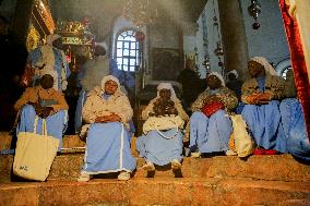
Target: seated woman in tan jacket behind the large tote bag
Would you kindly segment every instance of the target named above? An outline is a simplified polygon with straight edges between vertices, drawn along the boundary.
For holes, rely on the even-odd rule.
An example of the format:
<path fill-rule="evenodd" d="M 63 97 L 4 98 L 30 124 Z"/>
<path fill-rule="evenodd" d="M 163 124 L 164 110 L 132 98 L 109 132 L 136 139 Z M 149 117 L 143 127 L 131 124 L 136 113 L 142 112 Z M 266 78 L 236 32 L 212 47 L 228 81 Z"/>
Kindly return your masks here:
<path fill-rule="evenodd" d="M 67 129 L 69 109 L 63 94 L 52 88 L 53 77 L 44 74 L 40 85 L 27 88 L 16 101 L 14 109 L 20 111 L 20 132 L 36 132 L 41 134 L 41 119 L 46 119 L 47 135 L 59 140 L 59 149 L 62 146 L 62 134 Z M 34 131 L 35 117 L 38 116 L 37 131 Z"/>

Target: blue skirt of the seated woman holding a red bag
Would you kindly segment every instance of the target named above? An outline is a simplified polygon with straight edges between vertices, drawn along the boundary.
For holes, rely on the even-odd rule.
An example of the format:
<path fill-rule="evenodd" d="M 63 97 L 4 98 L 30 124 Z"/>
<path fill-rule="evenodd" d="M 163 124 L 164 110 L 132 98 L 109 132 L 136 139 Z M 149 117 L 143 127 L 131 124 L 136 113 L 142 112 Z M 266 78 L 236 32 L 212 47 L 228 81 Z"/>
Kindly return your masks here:
<path fill-rule="evenodd" d="M 233 132 L 231 121 L 225 110 L 218 110 L 207 118 L 195 111 L 190 118 L 191 152 L 215 153 L 228 150 L 228 142 Z"/>

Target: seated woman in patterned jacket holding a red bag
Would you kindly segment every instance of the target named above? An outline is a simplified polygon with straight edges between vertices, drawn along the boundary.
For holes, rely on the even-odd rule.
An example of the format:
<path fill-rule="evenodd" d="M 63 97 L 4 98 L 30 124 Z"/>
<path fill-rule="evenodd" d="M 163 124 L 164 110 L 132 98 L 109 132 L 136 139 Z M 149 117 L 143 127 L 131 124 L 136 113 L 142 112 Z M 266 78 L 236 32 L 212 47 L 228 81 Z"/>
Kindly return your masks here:
<path fill-rule="evenodd" d="M 190 118 L 190 152 L 192 157 L 201 153 L 228 150 L 228 141 L 233 132 L 227 111 L 233 110 L 238 99 L 234 92 L 225 86 L 224 78 L 217 72 L 206 77 L 207 88 L 192 105 Z M 213 112 L 205 112 L 205 111 Z"/>

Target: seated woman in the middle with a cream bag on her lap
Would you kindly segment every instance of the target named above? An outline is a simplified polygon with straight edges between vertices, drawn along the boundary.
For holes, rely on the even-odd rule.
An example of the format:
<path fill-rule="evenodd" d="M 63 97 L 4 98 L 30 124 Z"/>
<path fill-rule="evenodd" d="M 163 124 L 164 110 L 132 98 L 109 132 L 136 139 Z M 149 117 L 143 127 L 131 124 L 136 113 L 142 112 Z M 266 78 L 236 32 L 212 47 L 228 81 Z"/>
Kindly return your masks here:
<path fill-rule="evenodd" d="M 182 123 L 189 119 L 170 83 L 160 83 L 157 86 L 157 97 L 151 100 L 142 111 L 143 120 L 165 116 L 177 116 Z M 160 121 L 160 118 L 158 120 Z M 175 123 L 176 126 L 167 128 L 165 131 L 158 131 L 156 126 L 147 131 L 144 130 L 146 134 L 136 140 L 136 150 L 146 161 L 143 169 L 153 171 L 155 170 L 154 163 L 164 166 L 169 162 L 171 162 L 174 170 L 181 167 L 183 134 L 177 129 L 180 125 L 177 122 Z"/>

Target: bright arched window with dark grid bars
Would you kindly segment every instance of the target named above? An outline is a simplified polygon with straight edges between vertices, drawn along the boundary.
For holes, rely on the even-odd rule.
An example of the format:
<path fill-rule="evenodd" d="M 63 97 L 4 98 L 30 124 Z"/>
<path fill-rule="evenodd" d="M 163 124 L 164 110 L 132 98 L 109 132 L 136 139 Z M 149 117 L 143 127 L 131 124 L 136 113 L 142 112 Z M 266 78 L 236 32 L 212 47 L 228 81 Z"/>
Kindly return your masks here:
<path fill-rule="evenodd" d="M 140 64 L 140 53 L 134 31 L 124 31 L 117 37 L 116 53 L 119 70 L 135 71 L 135 68 Z"/>

